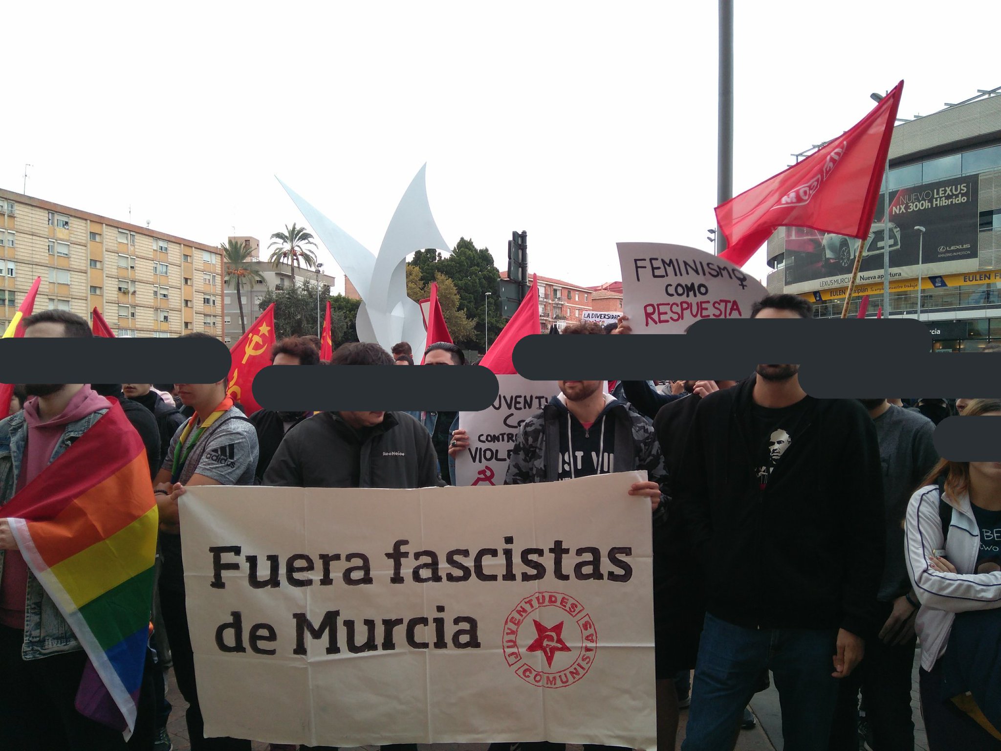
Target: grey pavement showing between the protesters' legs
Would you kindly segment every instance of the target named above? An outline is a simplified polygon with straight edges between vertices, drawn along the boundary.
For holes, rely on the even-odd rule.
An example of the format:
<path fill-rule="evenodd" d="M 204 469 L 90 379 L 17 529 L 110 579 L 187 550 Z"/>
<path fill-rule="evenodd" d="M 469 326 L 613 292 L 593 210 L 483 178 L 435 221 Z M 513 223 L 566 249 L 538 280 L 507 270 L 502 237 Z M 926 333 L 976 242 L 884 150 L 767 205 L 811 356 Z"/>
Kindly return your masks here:
<path fill-rule="evenodd" d="M 911 675 L 911 708 L 914 713 L 914 748 L 915 751 L 928 751 L 928 737 L 925 735 L 925 725 L 921 719 L 921 710 L 918 694 L 918 665 L 917 653 L 915 653 L 914 669 Z M 189 751 L 191 744 L 187 738 L 187 728 L 184 725 L 184 709 L 187 703 L 177 690 L 174 681 L 173 671 L 170 671 L 167 700 L 174 709 L 170 713 L 170 722 L 167 730 L 174 744 L 174 751 Z M 782 751 L 782 713 L 779 709 L 779 692 L 774 684 L 767 691 L 763 691 L 751 702 L 751 710 L 758 718 L 758 725 L 753 730 L 742 730 L 737 739 L 736 751 Z M 685 723 L 688 720 L 688 711 L 682 710 L 681 725 L 678 731 L 678 749 L 685 739 Z M 254 742 L 253 751 L 266 751 L 266 743 Z M 375 746 L 366 746 L 368 751 L 373 751 Z M 430 746 L 420 746 L 420 751 L 428 751 Z M 569 745 L 568 751 L 582 751 L 581 746 Z M 345 749 L 344 751 L 347 751 Z M 485 744 L 438 744 L 434 751 L 486 751 Z"/>

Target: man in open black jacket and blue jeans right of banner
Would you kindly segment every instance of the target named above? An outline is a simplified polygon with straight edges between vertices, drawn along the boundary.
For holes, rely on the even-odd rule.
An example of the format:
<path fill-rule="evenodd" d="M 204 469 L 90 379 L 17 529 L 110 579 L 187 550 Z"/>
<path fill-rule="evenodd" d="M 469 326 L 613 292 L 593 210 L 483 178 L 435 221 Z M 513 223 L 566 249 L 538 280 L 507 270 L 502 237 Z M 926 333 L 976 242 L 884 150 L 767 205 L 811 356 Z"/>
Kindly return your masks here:
<path fill-rule="evenodd" d="M 752 317 L 810 317 L 795 295 Z M 761 671 L 775 677 L 786 748 L 826 751 L 838 679 L 881 626 L 883 478 L 876 429 L 854 400 L 818 400 L 799 366 L 696 409 L 675 500 L 706 575 L 685 751 L 730 751 Z"/>

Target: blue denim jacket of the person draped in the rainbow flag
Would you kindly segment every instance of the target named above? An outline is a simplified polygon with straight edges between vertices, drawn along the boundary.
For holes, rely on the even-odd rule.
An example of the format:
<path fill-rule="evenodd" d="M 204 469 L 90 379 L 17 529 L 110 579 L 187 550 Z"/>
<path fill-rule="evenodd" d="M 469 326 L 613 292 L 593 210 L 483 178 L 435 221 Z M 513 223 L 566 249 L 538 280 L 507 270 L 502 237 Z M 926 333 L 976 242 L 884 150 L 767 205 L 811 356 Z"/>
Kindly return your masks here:
<path fill-rule="evenodd" d="M 66 424 L 49 464 L 55 462 L 106 412 L 107 410 L 98 410 L 75 423 Z M 28 424 L 23 412 L 0 422 L 0 518 L 4 517 L 3 506 L 14 497 L 27 440 Z M 0 551 L 0 576 L 3 575 L 3 560 L 4 551 Z M 21 657 L 25 660 L 35 660 L 79 649 L 81 649 L 80 643 L 73 630 L 29 570 L 28 596 L 24 613 L 24 646 L 21 648 Z"/>

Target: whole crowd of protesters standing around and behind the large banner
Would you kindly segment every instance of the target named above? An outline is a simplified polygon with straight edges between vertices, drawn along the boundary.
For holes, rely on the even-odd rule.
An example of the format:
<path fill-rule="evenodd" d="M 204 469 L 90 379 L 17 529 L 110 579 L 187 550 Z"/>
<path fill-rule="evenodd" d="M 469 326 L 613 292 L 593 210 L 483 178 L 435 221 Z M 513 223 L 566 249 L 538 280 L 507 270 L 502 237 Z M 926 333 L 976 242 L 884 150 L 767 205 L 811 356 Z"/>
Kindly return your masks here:
<path fill-rule="evenodd" d="M 752 315 L 812 311 L 801 297 L 774 295 Z M 91 335 L 62 310 L 23 324 L 25 336 Z M 563 333 L 631 328 L 623 316 Z M 186 334 L 198 335 L 206 334 Z M 422 364 L 465 364 L 446 342 L 419 354 Z M 316 337 L 282 339 L 271 357 L 276 365 L 415 363 L 406 342 L 391 353 L 344 344 L 321 363 Z M 1001 401 L 814 399 L 798 371 L 759 364 L 740 382 L 664 389 L 561 381 L 521 426 L 505 483 L 647 472 L 629 493 L 649 499 L 653 514 L 659 749 L 675 748 L 689 707 L 683 749 L 730 751 L 740 728 L 754 725 L 751 699 L 772 681 L 788 751 L 913 749 L 917 654 L 931 749 L 1001 748 L 1001 463 L 940 460 L 932 442 L 945 418 L 1001 416 Z M 146 447 L 160 524 L 148 675 L 127 741 L 77 711 L 81 645 L 2 511 L 118 409 Z M 0 749 L 169 751 L 164 675 L 172 666 L 191 748 L 248 750 L 248 740 L 203 737 L 178 499 L 206 485 L 454 485 L 454 460 L 469 445 L 457 413 L 245 415 L 225 382 L 28 384 L 15 389 L 11 412 L 0 422 Z M 496 745 L 558 748 L 525 741 Z"/>

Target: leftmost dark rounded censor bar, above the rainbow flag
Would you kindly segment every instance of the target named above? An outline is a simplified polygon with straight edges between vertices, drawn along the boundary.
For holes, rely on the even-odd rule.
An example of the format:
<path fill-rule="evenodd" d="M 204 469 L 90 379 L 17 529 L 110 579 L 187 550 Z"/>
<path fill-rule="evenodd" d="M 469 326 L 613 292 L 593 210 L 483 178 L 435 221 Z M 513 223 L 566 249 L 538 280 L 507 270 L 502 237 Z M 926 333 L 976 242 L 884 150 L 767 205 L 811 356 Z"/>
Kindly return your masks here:
<path fill-rule="evenodd" d="M 0 338 L 4 384 L 214 384 L 229 373 L 216 338 Z"/>

